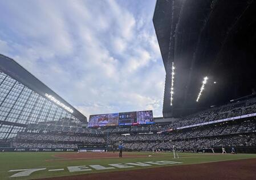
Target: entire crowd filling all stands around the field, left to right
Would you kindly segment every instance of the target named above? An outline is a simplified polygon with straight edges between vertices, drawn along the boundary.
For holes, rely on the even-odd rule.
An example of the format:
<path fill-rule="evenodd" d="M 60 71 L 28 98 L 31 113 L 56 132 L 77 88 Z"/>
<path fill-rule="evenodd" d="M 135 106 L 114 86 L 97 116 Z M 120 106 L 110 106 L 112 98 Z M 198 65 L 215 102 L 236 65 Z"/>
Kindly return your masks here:
<path fill-rule="evenodd" d="M 243 114 L 256 113 L 255 101 L 242 101 L 180 118 L 168 125 L 112 126 L 82 128 L 79 122 L 62 119 L 30 124 L 26 132 L 19 132 L 13 142 L 15 148 L 77 148 L 82 144 L 119 144 L 128 150 L 198 149 L 221 146 L 256 146 L 256 120 L 220 122 L 207 126 L 177 129 Z"/>

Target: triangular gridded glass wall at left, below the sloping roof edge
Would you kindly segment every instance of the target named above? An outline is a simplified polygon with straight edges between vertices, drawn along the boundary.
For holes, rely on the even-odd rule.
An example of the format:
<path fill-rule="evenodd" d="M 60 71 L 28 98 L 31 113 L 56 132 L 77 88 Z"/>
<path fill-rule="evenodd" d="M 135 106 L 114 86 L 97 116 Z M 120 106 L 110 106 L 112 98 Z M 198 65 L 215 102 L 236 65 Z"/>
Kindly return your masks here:
<path fill-rule="evenodd" d="M 0 139 L 13 138 L 24 125 L 64 118 L 78 120 L 52 101 L 0 71 Z"/>

